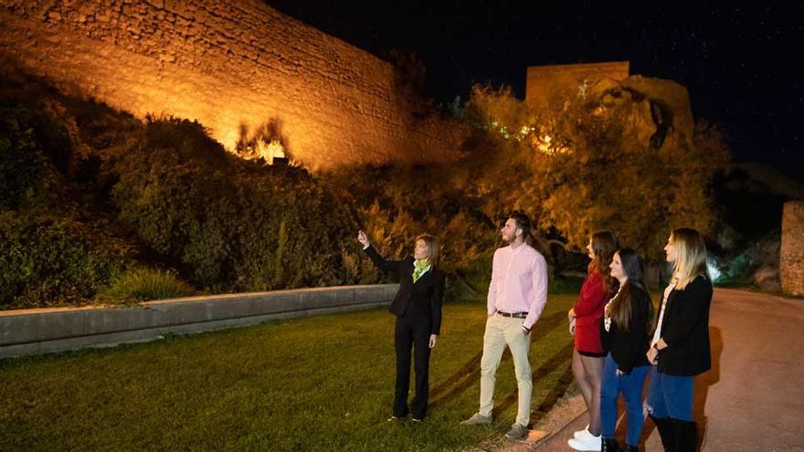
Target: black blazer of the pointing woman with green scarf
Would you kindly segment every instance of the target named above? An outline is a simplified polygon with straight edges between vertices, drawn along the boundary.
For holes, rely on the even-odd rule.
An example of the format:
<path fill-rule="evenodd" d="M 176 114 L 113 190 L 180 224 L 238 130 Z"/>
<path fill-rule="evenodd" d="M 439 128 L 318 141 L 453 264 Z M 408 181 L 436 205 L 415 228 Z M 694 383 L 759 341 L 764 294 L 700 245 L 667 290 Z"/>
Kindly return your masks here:
<path fill-rule="evenodd" d="M 430 334 L 439 334 L 441 303 L 444 298 L 444 272 L 431 267 L 414 283 L 414 258 L 386 260 L 372 246 L 365 248 L 365 254 L 381 270 L 399 274 L 399 291 L 388 310 L 397 317 L 402 317 L 406 312 L 427 315 L 430 320 Z"/>

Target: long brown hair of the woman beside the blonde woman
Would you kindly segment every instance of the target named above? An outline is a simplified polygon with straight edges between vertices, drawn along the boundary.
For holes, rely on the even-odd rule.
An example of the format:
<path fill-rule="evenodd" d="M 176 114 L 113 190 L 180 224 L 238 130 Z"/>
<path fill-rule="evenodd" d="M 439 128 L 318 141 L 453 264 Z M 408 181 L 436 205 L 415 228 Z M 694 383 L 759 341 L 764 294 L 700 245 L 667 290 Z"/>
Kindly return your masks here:
<path fill-rule="evenodd" d="M 642 277 L 642 263 L 640 256 L 631 248 L 622 248 L 617 253 L 622 271 L 628 277 L 625 284 L 619 289 L 617 296 L 606 306 L 606 316 L 617 324 L 620 330 L 629 331 L 631 321 L 631 303 L 634 292 L 641 290 L 648 296 L 648 320 L 645 325 L 647 334 L 653 334 L 653 303 L 645 280 Z"/>

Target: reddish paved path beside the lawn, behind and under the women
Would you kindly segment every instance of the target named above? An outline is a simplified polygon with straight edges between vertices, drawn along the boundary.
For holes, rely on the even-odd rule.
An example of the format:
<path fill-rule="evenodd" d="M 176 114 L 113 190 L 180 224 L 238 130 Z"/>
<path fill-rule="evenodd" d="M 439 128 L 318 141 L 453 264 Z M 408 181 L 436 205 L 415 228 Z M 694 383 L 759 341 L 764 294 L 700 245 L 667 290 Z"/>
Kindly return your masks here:
<path fill-rule="evenodd" d="M 715 289 L 710 335 L 713 370 L 695 381 L 702 450 L 804 452 L 804 300 Z M 586 425 L 584 414 L 540 444 L 511 450 L 570 451 L 566 440 Z M 642 440 L 644 450 L 661 451 L 650 420 Z"/>

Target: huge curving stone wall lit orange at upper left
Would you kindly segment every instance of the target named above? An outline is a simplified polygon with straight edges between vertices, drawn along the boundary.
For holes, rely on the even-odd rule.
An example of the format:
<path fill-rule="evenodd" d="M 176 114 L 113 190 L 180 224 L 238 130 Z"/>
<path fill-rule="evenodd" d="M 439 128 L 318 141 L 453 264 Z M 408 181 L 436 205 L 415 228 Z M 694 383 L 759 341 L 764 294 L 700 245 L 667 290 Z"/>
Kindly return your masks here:
<path fill-rule="evenodd" d="M 444 158 L 385 61 L 251 0 L 0 0 L 0 53 L 59 88 L 143 117 L 195 119 L 231 149 L 279 121 L 312 168 Z"/>

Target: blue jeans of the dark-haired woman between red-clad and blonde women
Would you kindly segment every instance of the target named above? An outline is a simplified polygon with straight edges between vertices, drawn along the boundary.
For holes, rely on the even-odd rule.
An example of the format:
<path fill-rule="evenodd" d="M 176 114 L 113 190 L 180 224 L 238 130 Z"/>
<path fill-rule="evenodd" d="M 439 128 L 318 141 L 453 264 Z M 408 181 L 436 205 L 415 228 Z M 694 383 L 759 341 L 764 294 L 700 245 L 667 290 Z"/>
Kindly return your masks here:
<path fill-rule="evenodd" d="M 600 388 L 600 432 L 603 437 L 613 438 L 617 428 L 617 397 L 622 393 L 625 401 L 628 424 L 625 442 L 631 446 L 640 444 L 642 434 L 642 388 L 651 366 L 634 367 L 631 374 L 617 375 L 617 362 L 606 355 L 603 362 L 603 381 Z"/>

